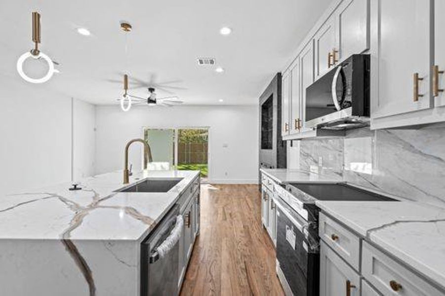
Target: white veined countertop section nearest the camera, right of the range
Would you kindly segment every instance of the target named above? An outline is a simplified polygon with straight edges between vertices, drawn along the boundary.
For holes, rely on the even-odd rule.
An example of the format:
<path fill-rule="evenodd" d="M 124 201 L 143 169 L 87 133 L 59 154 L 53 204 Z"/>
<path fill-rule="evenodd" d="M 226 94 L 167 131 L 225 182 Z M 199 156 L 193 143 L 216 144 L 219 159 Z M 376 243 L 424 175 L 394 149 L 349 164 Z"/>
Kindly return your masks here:
<path fill-rule="evenodd" d="M 445 209 L 400 201 L 317 201 L 325 213 L 445 288 Z"/>

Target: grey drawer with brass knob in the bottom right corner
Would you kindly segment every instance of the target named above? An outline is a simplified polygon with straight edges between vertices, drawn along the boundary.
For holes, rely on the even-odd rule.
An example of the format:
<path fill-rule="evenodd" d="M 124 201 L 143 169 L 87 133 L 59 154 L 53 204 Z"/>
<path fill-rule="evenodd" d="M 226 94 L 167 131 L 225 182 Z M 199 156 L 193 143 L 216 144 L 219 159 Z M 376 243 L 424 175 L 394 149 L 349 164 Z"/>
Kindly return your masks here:
<path fill-rule="evenodd" d="M 431 284 L 368 243 L 363 243 L 364 278 L 385 296 L 444 296 Z"/>

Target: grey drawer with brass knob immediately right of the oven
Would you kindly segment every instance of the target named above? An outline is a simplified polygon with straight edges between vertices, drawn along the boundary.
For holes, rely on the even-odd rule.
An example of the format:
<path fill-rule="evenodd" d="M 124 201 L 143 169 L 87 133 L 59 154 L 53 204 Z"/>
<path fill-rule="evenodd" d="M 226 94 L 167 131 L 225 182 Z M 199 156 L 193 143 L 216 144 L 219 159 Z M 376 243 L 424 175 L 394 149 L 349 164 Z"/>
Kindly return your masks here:
<path fill-rule="evenodd" d="M 360 238 L 345 227 L 320 213 L 319 235 L 357 271 L 360 270 Z"/>

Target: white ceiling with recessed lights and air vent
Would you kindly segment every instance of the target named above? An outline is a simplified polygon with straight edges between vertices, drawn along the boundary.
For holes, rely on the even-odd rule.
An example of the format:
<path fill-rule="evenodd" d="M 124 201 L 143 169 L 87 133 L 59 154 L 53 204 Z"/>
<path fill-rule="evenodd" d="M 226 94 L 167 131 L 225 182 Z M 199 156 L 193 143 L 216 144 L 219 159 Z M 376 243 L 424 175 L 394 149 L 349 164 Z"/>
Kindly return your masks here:
<path fill-rule="evenodd" d="M 0 72 L 20 80 L 17 58 L 32 48 L 31 12 L 42 17 L 40 49 L 61 63 L 45 86 L 94 104 L 116 104 L 122 71 L 171 86 L 186 104 L 257 104 L 258 97 L 331 0 L 28 0 L 0 3 Z M 128 58 L 120 21 L 133 26 Z M 230 36 L 219 29 L 229 26 Z M 88 28 L 92 36 L 76 32 Z M 214 57 L 202 67 L 197 57 Z M 30 66 L 31 65 L 26 65 Z M 3 81 L 5 81 L 3 79 Z M 16 85 L 16 84 L 15 84 Z M 7 88 L 0 83 L 0 93 Z M 143 88 L 131 91 L 145 95 Z"/>

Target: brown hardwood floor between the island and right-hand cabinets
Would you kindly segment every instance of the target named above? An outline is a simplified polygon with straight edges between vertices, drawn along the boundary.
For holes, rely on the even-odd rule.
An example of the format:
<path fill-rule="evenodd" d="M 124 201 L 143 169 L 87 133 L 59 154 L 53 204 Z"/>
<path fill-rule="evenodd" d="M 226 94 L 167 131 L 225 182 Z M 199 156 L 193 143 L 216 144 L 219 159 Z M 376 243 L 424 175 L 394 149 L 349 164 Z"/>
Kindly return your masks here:
<path fill-rule="evenodd" d="M 181 296 L 284 295 L 257 185 L 202 185 L 200 232 Z"/>

